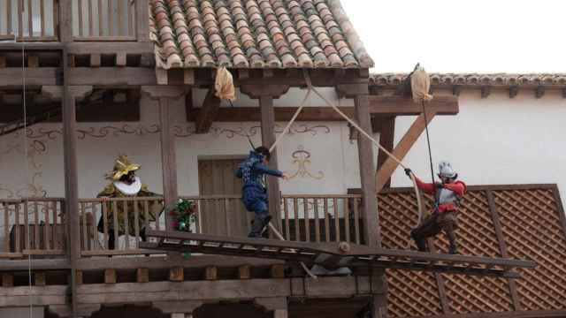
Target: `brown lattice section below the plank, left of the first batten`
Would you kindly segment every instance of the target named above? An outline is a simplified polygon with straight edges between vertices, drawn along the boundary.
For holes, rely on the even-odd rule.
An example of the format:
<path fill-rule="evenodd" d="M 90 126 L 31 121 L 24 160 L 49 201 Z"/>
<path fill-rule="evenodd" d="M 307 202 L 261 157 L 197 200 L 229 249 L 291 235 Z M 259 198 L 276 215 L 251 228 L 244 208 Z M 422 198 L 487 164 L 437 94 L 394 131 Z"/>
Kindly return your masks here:
<path fill-rule="evenodd" d="M 432 273 L 387 269 L 387 285 L 388 316 L 442 314 L 438 287 Z"/>

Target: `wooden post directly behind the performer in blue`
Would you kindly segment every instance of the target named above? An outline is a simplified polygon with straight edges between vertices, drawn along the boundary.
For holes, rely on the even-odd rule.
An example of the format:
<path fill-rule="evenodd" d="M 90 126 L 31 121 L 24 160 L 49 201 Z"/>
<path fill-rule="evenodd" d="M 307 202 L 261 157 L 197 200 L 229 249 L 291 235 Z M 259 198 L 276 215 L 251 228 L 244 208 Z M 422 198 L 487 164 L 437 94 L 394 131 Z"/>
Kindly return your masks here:
<path fill-rule="evenodd" d="M 273 97 L 260 96 L 259 106 L 262 113 L 262 144 L 270 148 L 275 143 L 275 111 L 273 110 Z M 269 161 L 271 169 L 277 169 L 277 148 L 273 149 Z M 269 211 L 272 215 L 273 224 L 281 230 L 281 193 L 279 192 L 279 180 L 277 178 L 267 178 L 267 193 L 269 195 Z"/>

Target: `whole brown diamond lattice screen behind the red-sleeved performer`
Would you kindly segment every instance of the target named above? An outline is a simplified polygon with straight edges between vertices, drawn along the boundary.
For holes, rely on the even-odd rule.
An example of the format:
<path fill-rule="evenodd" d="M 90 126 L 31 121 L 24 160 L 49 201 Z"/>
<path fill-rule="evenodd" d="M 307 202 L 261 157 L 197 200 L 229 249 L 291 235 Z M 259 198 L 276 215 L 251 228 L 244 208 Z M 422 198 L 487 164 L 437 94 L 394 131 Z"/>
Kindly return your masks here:
<path fill-rule="evenodd" d="M 425 201 L 430 208 L 432 198 Z M 556 186 L 473 186 L 462 203 L 457 231 L 460 253 L 487 257 L 506 253 L 537 261 L 538 268 L 522 270 L 523 278 L 515 284 L 503 278 L 387 270 L 389 316 L 566 308 L 566 238 Z M 379 222 L 384 247 L 415 249 L 409 239 L 417 223 L 412 190 L 379 194 Z M 496 229 L 496 223 L 501 229 Z M 447 250 L 443 234 L 435 247 Z"/>

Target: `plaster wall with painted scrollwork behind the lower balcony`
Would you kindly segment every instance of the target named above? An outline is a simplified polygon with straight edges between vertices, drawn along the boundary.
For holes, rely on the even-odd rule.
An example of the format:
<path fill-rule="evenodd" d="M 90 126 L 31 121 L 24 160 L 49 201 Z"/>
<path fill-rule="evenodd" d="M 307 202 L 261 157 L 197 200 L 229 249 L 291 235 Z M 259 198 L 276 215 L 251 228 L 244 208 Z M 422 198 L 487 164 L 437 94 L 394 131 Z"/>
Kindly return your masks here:
<path fill-rule="evenodd" d="M 203 91 L 195 92 L 195 105 L 202 102 Z M 279 106 L 296 106 L 305 92 L 289 92 Z M 338 101 L 332 90 L 326 94 Z M 241 97 L 239 106 L 255 106 L 256 101 Z M 312 96 L 308 106 L 323 102 Z M 226 106 L 226 105 L 223 105 Z M 198 158 L 210 155 L 247 155 L 251 135 L 256 146 L 261 144 L 259 123 L 215 123 L 210 133 L 194 134 L 193 125 L 186 122 L 185 102 L 172 103 L 172 118 L 176 133 L 178 183 L 181 195 L 198 194 Z M 78 125 L 79 195 L 95 197 L 107 184 L 104 174 L 111 170 L 115 158 L 124 153 L 142 165 L 139 171 L 144 183 L 157 193 L 162 192 L 161 153 L 158 133 L 157 102 L 142 97 L 140 123 L 80 123 Z M 278 123 L 282 131 L 287 123 Z M 0 198 L 18 196 L 63 196 L 64 158 L 60 124 L 34 125 L 30 138 L 13 133 L 0 138 Z M 27 160 L 24 149 L 27 142 Z M 350 187 L 359 187 L 356 142 L 349 140 L 345 123 L 297 123 L 291 133 L 280 142 L 279 168 L 290 174 L 300 169 L 296 162 L 305 159 L 295 153 L 304 150 L 310 162 L 304 162 L 302 174 L 287 182 L 281 181 L 283 193 L 346 193 Z"/>

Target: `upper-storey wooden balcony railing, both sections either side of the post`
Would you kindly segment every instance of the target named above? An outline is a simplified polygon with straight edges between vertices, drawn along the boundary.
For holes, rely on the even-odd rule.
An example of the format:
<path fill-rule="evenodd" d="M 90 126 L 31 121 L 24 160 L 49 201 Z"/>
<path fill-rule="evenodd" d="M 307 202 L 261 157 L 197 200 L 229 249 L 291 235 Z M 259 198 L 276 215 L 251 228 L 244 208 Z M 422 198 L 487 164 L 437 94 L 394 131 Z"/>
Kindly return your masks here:
<path fill-rule="evenodd" d="M 61 10 L 62 5 L 70 8 Z M 74 42 L 147 42 L 147 5 L 133 0 L 0 0 L 0 42 L 59 42 L 64 33 Z M 63 29 L 65 20 L 70 27 Z"/>

